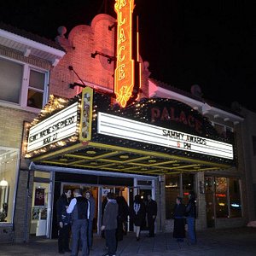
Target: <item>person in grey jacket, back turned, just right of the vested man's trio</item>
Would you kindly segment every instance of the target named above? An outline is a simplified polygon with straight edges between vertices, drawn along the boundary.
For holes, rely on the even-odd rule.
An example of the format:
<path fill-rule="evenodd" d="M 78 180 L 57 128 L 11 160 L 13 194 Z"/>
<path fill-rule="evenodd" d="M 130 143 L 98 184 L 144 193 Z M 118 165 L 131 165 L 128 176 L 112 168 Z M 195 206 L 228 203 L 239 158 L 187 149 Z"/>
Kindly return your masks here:
<path fill-rule="evenodd" d="M 117 229 L 117 218 L 119 214 L 119 206 L 117 201 L 114 199 L 112 192 L 107 194 L 107 204 L 104 208 L 102 230 L 105 231 L 106 243 L 108 245 L 108 253 L 103 256 L 115 256 L 117 241 L 116 241 L 116 229 Z"/>

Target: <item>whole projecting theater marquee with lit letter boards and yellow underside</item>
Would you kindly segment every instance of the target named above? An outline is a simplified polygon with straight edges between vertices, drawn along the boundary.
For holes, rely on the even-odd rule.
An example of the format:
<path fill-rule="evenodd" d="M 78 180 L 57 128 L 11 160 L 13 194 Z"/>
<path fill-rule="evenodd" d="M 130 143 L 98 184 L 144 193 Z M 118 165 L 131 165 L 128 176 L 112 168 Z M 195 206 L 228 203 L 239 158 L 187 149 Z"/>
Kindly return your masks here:
<path fill-rule="evenodd" d="M 52 102 L 58 105 L 61 100 Z M 108 96 L 88 87 L 61 110 L 53 108 L 52 102 L 28 135 L 26 156 L 36 164 L 142 175 L 234 166 L 232 143 L 215 134 L 195 110 L 179 106 L 182 113 L 177 119 L 170 100 L 149 99 L 130 108 L 110 108 Z M 170 108 L 172 113 L 167 111 Z"/>

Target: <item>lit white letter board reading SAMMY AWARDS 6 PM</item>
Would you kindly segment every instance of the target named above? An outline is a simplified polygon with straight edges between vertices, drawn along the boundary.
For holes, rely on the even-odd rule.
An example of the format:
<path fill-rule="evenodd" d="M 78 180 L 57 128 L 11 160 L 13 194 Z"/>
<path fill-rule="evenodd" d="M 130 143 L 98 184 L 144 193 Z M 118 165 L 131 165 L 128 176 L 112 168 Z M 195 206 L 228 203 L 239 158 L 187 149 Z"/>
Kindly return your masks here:
<path fill-rule="evenodd" d="M 233 160 L 233 146 L 182 131 L 149 125 L 108 113 L 98 113 L 98 133 L 166 148 L 177 148 Z"/>

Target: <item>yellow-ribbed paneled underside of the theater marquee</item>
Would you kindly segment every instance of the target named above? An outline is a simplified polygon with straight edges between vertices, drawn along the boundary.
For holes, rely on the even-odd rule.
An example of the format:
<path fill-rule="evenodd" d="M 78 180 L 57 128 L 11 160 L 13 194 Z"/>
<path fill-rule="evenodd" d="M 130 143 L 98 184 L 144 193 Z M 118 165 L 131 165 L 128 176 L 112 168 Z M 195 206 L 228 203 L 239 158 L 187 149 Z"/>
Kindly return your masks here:
<path fill-rule="evenodd" d="M 87 145 L 79 143 L 38 156 L 32 160 L 40 165 L 142 175 L 216 171 L 229 167 L 224 164 L 193 160 L 172 154 L 122 148 L 100 143 L 88 143 Z"/>

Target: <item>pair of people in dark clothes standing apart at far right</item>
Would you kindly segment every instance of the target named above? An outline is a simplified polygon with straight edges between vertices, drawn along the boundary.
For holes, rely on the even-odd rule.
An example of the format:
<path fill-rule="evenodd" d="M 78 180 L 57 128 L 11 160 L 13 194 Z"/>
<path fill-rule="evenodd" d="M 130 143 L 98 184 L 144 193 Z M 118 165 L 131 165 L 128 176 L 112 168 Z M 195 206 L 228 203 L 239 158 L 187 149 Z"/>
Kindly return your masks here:
<path fill-rule="evenodd" d="M 183 198 L 177 196 L 173 218 L 173 237 L 176 238 L 178 242 L 183 241 L 183 239 L 186 237 L 185 224 L 187 224 L 189 244 L 195 244 L 196 206 L 195 193 L 193 191 L 189 191 L 189 202 L 186 206 L 183 204 Z"/>

